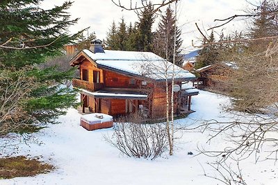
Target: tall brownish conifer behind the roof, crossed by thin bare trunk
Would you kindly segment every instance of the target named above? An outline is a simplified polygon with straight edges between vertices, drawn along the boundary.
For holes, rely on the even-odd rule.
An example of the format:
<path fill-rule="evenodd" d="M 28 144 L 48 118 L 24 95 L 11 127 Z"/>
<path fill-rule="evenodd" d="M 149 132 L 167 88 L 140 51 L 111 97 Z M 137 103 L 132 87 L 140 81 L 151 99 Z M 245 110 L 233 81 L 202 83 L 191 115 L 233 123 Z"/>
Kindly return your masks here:
<path fill-rule="evenodd" d="M 177 29 L 176 32 L 176 53 L 175 53 L 175 64 L 179 67 L 183 64 L 183 58 L 181 53 L 181 29 Z M 173 61 L 173 51 L 174 51 L 174 15 L 173 10 L 170 7 L 167 8 L 165 15 L 161 16 L 161 21 L 158 24 L 158 29 L 156 30 L 154 37 L 154 53 L 167 59 L 168 61 Z"/>

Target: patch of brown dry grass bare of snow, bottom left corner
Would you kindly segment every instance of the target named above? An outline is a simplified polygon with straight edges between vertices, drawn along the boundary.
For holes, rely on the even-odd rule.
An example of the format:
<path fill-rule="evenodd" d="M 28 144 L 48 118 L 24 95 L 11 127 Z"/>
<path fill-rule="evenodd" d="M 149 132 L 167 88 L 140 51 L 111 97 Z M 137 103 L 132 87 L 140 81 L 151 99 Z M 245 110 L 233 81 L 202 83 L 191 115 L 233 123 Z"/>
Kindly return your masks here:
<path fill-rule="evenodd" d="M 48 173 L 54 166 L 44 164 L 37 159 L 28 159 L 25 156 L 8 157 L 0 159 L 0 179 L 14 177 L 28 177 L 40 173 Z"/>

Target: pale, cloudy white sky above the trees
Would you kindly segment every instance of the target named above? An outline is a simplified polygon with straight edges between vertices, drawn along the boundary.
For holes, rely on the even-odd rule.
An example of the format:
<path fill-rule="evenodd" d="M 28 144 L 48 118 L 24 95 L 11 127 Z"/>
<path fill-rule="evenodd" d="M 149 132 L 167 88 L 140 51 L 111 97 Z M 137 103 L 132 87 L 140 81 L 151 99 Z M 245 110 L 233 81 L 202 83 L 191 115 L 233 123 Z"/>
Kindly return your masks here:
<path fill-rule="evenodd" d="M 44 0 L 41 4 L 42 8 L 51 8 L 54 5 L 59 6 L 65 0 Z M 117 0 L 116 0 L 117 1 Z M 120 0 L 123 4 L 129 5 L 130 0 Z M 136 0 L 132 0 L 135 2 Z M 138 0 L 137 0 L 138 1 Z M 162 0 L 154 0 L 162 1 Z M 154 2 L 153 1 L 153 2 Z M 255 1 L 255 0 L 254 0 Z M 253 2 L 251 0 L 251 2 Z M 202 37 L 197 30 L 195 23 L 204 33 L 211 26 L 219 23 L 214 22 L 214 19 L 223 19 L 235 14 L 243 14 L 243 10 L 247 8 L 247 0 L 180 0 L 178 3 L 178 26 L 182 30 L 183 51 L 192 51 L 195 48 L 192 46 L 192 40 L 195 46 L 200 44 Z M 113 21 L 117 24 L 121 17 L 124 17 L 126 24 L 138 21 L 138 16 L 135 12 L 129 10 L 122 10 L 115 6 L 111 0 L 75 0 L 73 6 L 68 10 L 72 18 L 79 17 L 78 24 L 70 27 L 71 33 L 76 33 L 78 30 L 90 26 L 89 32 L 95 32 L 98 39 L 106 39 L 106 33 L 111 27 Z M 164 12 L 164 10 L 162 10 Z M 153 30 L 159 21 L 159 15 L 153 26 Z M 231 33 L 235 30 L 242 30 L 246 27 L 246 21 L 232 21 L 227 26 L 215 29 L 215 35 L 224 31 L 224 33 Z M 208 31 L 209 35 L 211 32 Z"/>

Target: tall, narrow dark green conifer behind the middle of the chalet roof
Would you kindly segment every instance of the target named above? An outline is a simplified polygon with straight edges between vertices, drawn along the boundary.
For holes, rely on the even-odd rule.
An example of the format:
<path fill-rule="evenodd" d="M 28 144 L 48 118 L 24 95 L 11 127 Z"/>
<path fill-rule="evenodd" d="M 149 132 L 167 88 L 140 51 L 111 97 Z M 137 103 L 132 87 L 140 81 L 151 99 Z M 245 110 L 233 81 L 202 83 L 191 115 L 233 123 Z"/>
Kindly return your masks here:
<path fill-rule="evenodd" d="M 144 8 L 138 23 L 137 51 L 152 51 L 154 34 L 152 25 L 154 24 L 154 8 L 151 3 Z"/>

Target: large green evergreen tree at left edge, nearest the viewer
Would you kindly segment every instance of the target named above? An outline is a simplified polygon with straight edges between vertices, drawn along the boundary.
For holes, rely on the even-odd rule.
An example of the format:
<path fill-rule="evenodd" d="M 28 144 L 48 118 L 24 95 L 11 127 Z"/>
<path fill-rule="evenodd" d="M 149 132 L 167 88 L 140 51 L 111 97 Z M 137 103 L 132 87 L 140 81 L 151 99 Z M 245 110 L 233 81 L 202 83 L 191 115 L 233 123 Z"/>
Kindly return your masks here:
<path fill-rule="evenodd" d="M 8 79 L 1 80 L 1 87 L 17 89 L 17 82 L 32 79 L 28 93 L 15 102 L 21 109 L 13 107 L 0 113 L 0 127 L 15 124 L 15 112 L 21 115 L 16 123 L 32 125 L 54 122 L 66 113 L 65 109 L 76 105 L 75 92 L 58 83 L 71 78 L 73 70 L 38 68 L 47 58 L 60 55 L 64 44 L 80 36 L 67 34 L 67 28 L 77 21 L 66 12 L 72 2 L 66 1 L 50 10 L 42 10 L 39 3 L 40 0 L 0 2 L 0 73 L 6 73 Z M 22 72 L 17 75 L 17 71 Z M 5 101 L 0 98 L 2 105 Z"/>

